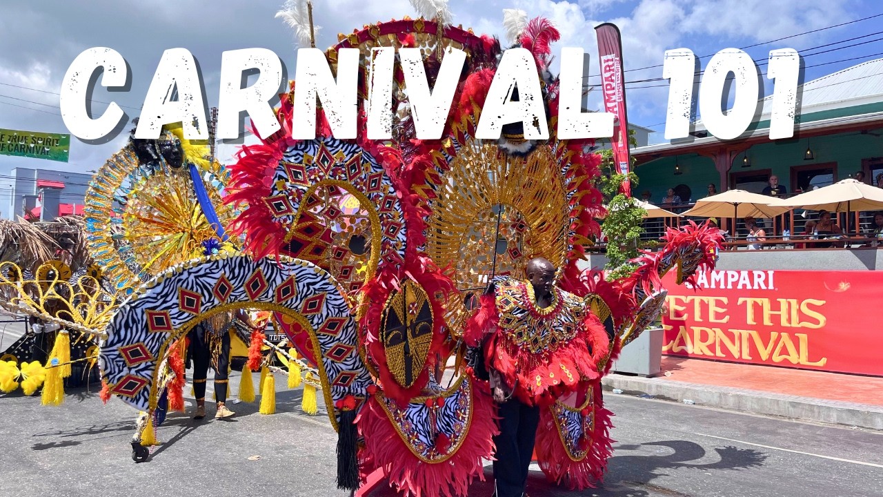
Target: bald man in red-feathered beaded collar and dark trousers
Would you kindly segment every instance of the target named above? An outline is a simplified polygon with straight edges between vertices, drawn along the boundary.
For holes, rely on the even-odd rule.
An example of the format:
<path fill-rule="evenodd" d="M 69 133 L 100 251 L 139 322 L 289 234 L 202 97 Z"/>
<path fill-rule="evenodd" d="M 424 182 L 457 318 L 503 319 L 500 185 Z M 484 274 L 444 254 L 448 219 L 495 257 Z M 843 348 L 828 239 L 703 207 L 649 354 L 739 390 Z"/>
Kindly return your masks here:
<path fill-rule="evenodd" d="M 540 409 L 585 391 L 600 378 L 597 360 L 607 333 L 576 295 L 555 287 L 555 266 L 534 258 L 527 281 L 503 279 L 487 288 L 466 340 L 484 343 L 484 367 L 498 404 L 494 496 L 525 493 Z"/>

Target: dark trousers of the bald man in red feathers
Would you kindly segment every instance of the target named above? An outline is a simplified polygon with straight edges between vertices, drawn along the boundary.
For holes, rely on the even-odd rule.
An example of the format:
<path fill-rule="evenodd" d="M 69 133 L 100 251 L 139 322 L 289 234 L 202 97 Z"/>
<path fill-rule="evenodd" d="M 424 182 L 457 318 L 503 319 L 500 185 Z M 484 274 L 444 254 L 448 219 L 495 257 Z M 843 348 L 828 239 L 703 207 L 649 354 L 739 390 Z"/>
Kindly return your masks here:
<path fill-rule="evenodd" d="M 521 497 L 531 466 L 533 442 L 540 424 L 540 408 L 517 398 L 500 404 L 500 434 L 494 437 L 494 486 L 496 497 Z"/>

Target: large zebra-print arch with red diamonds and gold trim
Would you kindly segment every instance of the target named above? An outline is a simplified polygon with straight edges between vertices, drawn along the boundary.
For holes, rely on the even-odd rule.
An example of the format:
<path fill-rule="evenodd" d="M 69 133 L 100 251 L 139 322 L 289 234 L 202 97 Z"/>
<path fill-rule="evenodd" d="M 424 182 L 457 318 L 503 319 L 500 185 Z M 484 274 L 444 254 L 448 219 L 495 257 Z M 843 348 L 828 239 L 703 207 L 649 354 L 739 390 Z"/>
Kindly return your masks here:
<path fill-rule="evenodd" d="M 255 261 L 229 255 L 171 268 L 121 304 L 102 343 L 102 378 L 111 393 L 138 409 L 154 408 L 161 394 L 156 366 L 170 341 L 213 310 L 233 307 L 290 310 L 306 319 L 319 348 L 332 423 L 335 401 L 347 394 L 365 396 L 371 377 L 358 356 L 355 319 L 336 281 L 318 266 L 291 257 Z"/>

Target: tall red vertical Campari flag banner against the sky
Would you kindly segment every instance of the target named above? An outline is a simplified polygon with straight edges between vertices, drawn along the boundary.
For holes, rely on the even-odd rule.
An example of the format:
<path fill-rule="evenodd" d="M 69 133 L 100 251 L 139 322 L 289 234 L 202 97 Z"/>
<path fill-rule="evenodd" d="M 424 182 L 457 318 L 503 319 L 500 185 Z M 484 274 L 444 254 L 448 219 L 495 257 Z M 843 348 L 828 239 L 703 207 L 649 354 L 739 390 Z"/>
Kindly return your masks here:
<path fill-rule="evenodd" d="M 625 76 L 623 73 L 623 41 L 619 28 L 606 22 L 595 27 L 598 35 L 598 60 L 601 66 L 601 93 L 604 95 L 604 110 L 615 116 L 613 137 L 610 138 L 613 157 L 620 174 L 628 174 L 629 157 L 629 118 L 625 112 Z M 631 196 L 629 180 L 623 181 L 620 191 Z"/>

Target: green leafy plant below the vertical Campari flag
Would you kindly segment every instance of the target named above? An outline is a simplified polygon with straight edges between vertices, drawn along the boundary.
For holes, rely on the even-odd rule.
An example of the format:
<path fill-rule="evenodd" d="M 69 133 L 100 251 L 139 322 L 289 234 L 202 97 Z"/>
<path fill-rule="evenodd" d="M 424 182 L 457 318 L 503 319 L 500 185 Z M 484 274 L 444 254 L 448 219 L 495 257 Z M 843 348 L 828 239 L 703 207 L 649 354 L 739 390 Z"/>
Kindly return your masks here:
<path fill-rule="evenodd" d="M 630 131 L 629 141 L 632 146 L 637 142 L 634 132 Z M 638 206 L 634 197 L 619 193 L 623 181 L 629 180 L 632 187 L 638 185 L 638 175 L 634 172 L 620 174 L 616 172 L 613 150 L 601 150 L 602 177 L 598 183 L 604 201 L 608 205 L 608 216 L 601 223 L 601 230 L 607 235 L 608 279 L 620 279 L 635 271 L 635 264 L 629 260 L 638 256 L 638 245 L 644 230 L 641 223 L 645 210 Z M 634 157 L 632 157 L 634 165 Z"/>

